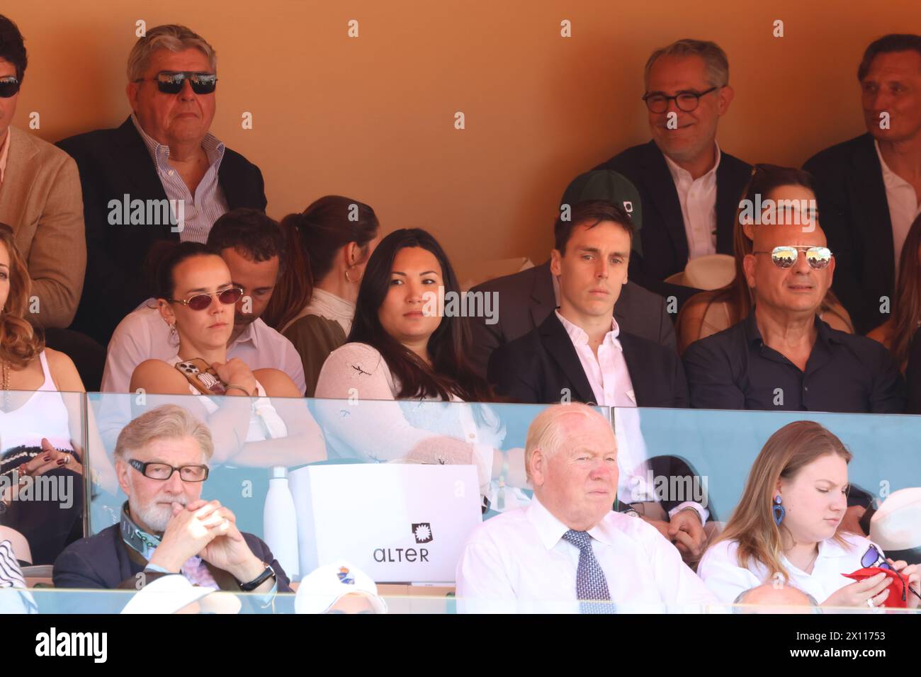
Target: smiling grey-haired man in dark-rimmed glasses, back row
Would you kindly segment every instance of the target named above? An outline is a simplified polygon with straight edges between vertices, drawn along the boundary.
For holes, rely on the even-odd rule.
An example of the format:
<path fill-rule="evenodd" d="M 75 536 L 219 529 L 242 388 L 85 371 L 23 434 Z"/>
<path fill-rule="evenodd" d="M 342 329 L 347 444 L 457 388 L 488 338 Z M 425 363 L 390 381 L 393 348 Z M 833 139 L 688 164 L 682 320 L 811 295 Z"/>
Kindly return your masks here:
<path fill-rule="evenodd" d="M 631 257 L 630 278 L 681 304 L 696 290 L 662 281 L 691 259 L 732 253 L 732 218 L 751 168 L 717 145 L 733 90 L 716 43 L 680 40 L 656 50 L 644 83 L 652 141 L 595 169 L 624 174 L 640 193 L 643 253 Z"/>

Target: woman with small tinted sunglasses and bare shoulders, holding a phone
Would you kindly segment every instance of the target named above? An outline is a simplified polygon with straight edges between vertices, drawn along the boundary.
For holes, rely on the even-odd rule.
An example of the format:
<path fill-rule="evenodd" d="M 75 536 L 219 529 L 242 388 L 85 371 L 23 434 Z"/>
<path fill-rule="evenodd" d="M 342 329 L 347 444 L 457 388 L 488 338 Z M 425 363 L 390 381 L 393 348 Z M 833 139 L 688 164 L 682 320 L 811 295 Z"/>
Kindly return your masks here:
<path fill-rule="evenodd" d="M 198 395 L 200 410 L 192 413 L 207 417 L 216 461 L 232 456 L 237 464 L 268 466 L 324 459 L 321 431 L 294 381 L 278 369 L 253 371 L 238 358 L 227 360 L 241 297 L 220 256 L 197 242 L 176 245 L 157 269 L 157 307 L 179 350 L 169 360 L 138 365 L 131 390 Z"/>

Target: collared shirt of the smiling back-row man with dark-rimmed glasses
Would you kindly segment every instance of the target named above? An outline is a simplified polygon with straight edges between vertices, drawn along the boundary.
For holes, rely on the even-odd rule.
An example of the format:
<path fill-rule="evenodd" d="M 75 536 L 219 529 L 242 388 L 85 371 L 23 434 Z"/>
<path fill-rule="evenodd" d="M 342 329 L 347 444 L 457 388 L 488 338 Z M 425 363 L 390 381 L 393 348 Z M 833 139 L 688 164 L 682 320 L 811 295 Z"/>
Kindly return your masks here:
<path fill-rule="evenodd" d="M 714 142 L 716 143 L 716 142 Z M 668 156 L 664 156 L 671 180 L 678 191 L 682 205 L 684 233 L 688 239 L 688 261 L 707 254 L 717 253 L 717 168 L 721 154 L 717 146 L 717 161 L 704 176 L 694 179 L 691 172 L 682 169 Z"/>

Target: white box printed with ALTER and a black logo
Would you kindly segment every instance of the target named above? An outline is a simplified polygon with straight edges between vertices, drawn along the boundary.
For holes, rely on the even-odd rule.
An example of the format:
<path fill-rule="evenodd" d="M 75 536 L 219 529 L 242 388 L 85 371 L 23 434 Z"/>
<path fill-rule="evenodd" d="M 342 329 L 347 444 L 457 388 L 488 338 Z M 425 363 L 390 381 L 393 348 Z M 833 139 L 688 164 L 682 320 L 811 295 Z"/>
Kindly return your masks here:
<path fill-rule="evenodd" d="M 453 583 L 483 519 L 473 465 L 313 465 L 288 481 L 305 575 L 346 559 L 378 583 Z"/>

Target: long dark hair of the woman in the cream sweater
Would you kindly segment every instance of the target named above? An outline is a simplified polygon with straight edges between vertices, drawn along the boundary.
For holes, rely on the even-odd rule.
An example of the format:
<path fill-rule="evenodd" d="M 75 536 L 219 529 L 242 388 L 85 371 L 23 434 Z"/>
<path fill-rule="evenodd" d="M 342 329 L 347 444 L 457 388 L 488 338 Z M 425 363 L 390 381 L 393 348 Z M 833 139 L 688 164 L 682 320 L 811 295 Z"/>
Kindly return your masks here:
<path fill-rule="evenodd" d="M 348 342 L 369 344 L 379 350 L 393 376 L 400 381 L 398 398 L 437 396 L 447 401 L 455 394 L 465 402 L 494 402 L 492 389 L 476 374 L 467 357 L 472 348 L 467 318 L 446 316 L 441 319 L 428 338 L 431 367 L 381 326 L 378 310 L 391 288 L 393 261 L 397 252 L 406 247 L 430 251 L 441 266 L 445 294 L 460 294 L 457 275 L 435 238 L 421 228 L 395 230 L 380 240 L 368 259 Z"/>

